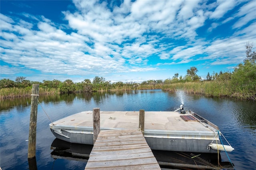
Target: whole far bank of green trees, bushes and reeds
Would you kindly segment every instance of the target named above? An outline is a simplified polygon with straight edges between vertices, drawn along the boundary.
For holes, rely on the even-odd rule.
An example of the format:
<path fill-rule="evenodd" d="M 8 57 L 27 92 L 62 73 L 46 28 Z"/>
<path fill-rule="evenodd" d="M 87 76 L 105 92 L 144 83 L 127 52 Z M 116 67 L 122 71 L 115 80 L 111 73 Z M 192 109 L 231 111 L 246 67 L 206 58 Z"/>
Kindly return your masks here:
<path fill-rule="evenodd" d="M 186 93 L 205 95 L 207 97 L 233 97 L 256 101 L 256 52 L 252 52 L 252 43 L 247 42 L 246 58 L 243 63 L 237 65 L 234 71 L 213 73 L 206 79 L 198 76 L 196 67 L 190 67 L 187 74 L 182 76 L 178 73 L 166 80 L 148 80 L 142 83 L 136 82 L 114 82 L 106 81 L 104 77 L 85 79 L 74 83 L 72 80 L 43 80 L 43 82 L 29 81 L 26 77 L 18 76 L 15 81 L 0 79 L 0 99 L 13 97 L 25 97 L 31 95 L 32 84 L 39 84 L 39 95 L 60 93 L 84 93 L 104 91 L 126 91 L 162 89 L 175 92 L 182 90 Z"/>

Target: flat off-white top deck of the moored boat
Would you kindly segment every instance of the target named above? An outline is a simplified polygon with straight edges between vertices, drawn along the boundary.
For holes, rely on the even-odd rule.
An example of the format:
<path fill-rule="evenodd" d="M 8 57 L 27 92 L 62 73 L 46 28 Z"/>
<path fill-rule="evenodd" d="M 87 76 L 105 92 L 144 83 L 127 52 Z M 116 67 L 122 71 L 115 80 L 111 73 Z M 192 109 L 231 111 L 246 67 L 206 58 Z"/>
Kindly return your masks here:
<path fill-rule="evenodd" d="M 182 119 L 181 116 L 185 116 Z M 188 114 L 166 111 L 145 111 L 145 130 L 211 132 L 216 129 L 206 123 L 191 119 Z M 55 126 L 93 128 L 92 111 L 84 111 L 54 122 Z M 100 111 L 100 128 L 138 128 L 139 111 Z M 52 126 L 52 125 L 50 125 Z"/>

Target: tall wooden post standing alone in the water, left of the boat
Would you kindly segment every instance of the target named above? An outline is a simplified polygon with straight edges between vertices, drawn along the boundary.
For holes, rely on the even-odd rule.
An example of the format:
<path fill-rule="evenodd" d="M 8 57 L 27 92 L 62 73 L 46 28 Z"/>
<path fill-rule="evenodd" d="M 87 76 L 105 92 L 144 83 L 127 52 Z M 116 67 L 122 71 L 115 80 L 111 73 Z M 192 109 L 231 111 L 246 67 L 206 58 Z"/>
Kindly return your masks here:
<path fill-rule="evenodd" d="M 28 136 L 28 159 L 36 157 L 36 121 L 37 106 L 39 97 L 39 84 L 32 85 L 31 108 L 30 108 L 30 124 Z"/>

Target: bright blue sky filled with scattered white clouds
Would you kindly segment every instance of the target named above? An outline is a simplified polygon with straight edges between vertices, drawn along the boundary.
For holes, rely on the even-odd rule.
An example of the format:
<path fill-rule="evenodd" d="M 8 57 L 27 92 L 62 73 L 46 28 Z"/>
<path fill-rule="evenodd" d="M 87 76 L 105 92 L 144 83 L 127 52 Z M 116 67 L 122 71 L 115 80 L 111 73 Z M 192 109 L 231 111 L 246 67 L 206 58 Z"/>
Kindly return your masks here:
<path fill-rule="evenodd" d="M 0 78 L 206 78 L 256 51 L 256 1 L 0 1 Z"/>

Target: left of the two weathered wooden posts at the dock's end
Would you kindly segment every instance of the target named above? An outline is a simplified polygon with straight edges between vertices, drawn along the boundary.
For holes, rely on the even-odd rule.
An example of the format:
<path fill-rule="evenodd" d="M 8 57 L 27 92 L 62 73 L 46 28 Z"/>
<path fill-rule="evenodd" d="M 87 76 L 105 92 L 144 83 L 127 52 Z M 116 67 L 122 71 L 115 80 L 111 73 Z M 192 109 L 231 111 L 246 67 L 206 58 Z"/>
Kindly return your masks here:
<path fill-rule="evenodd" d="M 100 133 L 100 108 L 94 108 L 93 116 L 93 144 L 96 142 L 98 134 Z"/>

